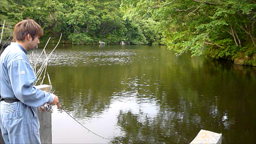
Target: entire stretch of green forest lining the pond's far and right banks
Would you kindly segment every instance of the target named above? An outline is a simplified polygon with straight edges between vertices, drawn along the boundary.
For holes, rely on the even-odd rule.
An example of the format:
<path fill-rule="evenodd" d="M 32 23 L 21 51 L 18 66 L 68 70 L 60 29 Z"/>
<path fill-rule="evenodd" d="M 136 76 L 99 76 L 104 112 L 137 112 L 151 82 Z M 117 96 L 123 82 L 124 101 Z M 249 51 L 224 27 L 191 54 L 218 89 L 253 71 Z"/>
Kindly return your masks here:
<path fill-rule="evenodd" d="M 256 66 L 254 0 L 1 0 L 2 44 L 22 19 L 42 26 L 46 42 L 167 45 L 177 54 L 191 52 Z"/>

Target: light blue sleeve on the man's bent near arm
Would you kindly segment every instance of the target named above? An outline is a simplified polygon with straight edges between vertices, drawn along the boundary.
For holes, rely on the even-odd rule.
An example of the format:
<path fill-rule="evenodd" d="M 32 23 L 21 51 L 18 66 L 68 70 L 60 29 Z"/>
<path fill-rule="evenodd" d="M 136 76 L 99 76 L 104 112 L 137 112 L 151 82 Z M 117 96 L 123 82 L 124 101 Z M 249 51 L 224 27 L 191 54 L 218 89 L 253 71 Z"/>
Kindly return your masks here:
<path fill-rule="evenodd" d="M 23 59 L 12 61 L 8 66 L 8 74 L 15 97 L 25 105 L 39 107 L 53 101 L 53 94 L 43 92 L 34 86 L 36 77 L 33 68 Z"/>

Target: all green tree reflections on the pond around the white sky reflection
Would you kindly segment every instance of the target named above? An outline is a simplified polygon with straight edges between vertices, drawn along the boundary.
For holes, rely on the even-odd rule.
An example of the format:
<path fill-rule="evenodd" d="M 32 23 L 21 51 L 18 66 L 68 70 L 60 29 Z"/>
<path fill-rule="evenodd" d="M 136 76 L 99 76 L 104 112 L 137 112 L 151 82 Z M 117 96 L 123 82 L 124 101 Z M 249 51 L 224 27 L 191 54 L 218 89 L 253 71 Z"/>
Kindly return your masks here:
<path fill-rule="evenodd" d="M 171 54 L 138 50 L 129 65 L 48 70 L 76 118 L 102 113 L 116 97 L 157 101 L 155 117 L 120 111 L 123 135 L 113 143 L 189 143 L 200 129 L 223 133 L 223 143 L 255 142 L 255 69 Z"/>

